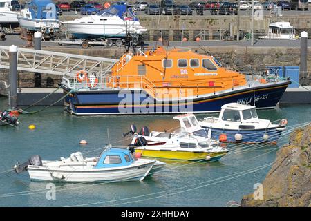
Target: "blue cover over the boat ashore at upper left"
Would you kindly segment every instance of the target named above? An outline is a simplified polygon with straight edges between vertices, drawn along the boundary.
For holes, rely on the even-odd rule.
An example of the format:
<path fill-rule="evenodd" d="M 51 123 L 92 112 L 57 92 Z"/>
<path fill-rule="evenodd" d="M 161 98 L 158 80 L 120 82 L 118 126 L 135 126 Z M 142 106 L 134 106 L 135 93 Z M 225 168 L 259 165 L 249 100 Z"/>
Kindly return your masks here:
<path fill-rule="evenodd" d="M 51 12 L 53 6 L 55 3 L 50 0 L 32 0 L 26 3 L 25 8 L 29 8 L 33 19 L 58 19 L 56 11 L 54 16 Z"/>

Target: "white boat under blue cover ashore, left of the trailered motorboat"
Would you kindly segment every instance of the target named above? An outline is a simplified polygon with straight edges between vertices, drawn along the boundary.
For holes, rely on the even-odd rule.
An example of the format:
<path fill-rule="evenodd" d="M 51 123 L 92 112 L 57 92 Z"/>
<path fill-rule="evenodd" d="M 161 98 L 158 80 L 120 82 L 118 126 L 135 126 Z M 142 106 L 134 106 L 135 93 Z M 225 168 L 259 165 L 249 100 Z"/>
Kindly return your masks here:
<path fill-rule="evenodd" d="M 19 25 L 30 31 L 39 31 L 44 35 L 54 35 L 59 32 L 59 20 L 56 6 L 50 0 L 32 0 L 21 10 Z"/>

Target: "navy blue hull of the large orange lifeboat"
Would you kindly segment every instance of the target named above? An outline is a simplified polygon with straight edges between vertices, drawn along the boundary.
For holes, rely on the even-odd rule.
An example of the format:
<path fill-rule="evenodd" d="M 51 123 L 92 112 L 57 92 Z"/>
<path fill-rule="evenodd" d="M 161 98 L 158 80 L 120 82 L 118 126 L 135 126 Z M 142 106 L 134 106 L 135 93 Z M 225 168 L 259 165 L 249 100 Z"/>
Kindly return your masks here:
<path fill-rule="evenodd" d="M 69 111 L 76 115 L 212 113 L 220 111 L 221 106 L 230 102 L 254 104 L 255 92 L 256 108 L 274 108 L 288 84 L 290 81 L 275 86 L 260 86 L 255 90 L 243 88 L 191 101 L 180 100 L 178 103 L 155 102 L 143 90 L 129 90 L 127 93 L 120 93 L 119 90 L 77 91 L 67 96 L 65 102 L 69 104 Z M 64 93 L 68 91 L 64 88 Z"/>

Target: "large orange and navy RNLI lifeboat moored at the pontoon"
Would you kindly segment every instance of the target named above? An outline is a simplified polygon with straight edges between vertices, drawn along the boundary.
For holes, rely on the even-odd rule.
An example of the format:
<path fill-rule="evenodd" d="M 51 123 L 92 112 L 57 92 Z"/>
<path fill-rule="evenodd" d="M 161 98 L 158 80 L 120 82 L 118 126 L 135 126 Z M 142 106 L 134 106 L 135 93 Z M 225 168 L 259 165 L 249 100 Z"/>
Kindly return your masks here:
<path fill-rule="evenodd" d="M 209 113 L 231 102 L 274 108 L 288 84 L 272 74 L 224 68 L 213 56 L 162 46 L 126 53 L 103 75 L 68 73 L 61 83 L 74 115 Z"/>

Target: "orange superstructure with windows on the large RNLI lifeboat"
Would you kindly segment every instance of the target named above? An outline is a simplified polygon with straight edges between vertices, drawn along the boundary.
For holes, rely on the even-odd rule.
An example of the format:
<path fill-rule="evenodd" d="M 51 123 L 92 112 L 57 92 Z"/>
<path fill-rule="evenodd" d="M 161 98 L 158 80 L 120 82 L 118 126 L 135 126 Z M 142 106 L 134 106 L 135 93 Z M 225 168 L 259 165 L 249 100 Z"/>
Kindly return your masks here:
<path fill-rule="evenodd" d="M 244 75 L 223 68 L 212 56 L 163 47 L 123 55 L 111 76 L 111 87 L 143 88 L 155 98 L 198 97 L 247 84 Z"/>

